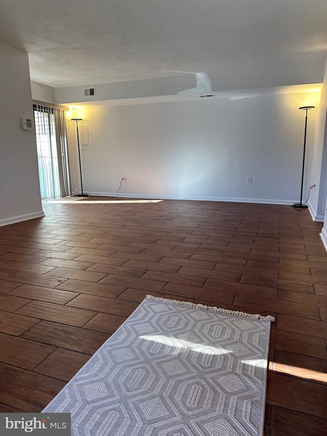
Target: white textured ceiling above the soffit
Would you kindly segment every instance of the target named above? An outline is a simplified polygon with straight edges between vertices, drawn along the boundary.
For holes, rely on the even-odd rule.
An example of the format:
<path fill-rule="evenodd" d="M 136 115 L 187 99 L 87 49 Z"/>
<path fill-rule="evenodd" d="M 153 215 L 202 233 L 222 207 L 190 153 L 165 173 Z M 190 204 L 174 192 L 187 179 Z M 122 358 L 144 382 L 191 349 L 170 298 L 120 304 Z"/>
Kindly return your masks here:
<path fill-rule="evenodd" d="M 54 87 L 327 56 L 326 0 L 1 0 L 0 41 Z"/>

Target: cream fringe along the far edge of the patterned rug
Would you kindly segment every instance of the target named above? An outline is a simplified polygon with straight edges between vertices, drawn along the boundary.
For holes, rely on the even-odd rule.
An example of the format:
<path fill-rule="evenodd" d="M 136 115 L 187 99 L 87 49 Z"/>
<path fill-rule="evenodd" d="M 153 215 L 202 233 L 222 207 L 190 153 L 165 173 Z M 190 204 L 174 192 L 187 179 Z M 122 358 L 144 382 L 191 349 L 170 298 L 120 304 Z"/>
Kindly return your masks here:
<path fill-rule="evenodd" d="M 264 323 L 273 323 L 275 320 L 275 318 L 271 315 L 267 315 L 267 316 L 262 316 L 259 314 L 254 315 L 252 313 L 239 312 L 237 310 L 222 309 L 221 307 L 204 306 L 203 304 L 195 304 L 189 301 L 169 300 L 166 298 L 154 297 L 153 295 L 147 295 L 147 299 L 169 303 L 174 306 L 183 306 L 193 309 L 207 310 L 213 313 L 221 313 L 222 315 L 237 316 L 238 318 L 250 319 L 252 321 L 261 321 Z"/>

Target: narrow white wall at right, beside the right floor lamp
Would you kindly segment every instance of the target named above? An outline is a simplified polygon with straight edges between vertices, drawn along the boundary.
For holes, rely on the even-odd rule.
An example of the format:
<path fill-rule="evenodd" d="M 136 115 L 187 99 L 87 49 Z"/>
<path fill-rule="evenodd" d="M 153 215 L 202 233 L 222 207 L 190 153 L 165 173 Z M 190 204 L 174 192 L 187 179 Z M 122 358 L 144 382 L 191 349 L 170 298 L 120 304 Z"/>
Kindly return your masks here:
<path fill-rule="evenodd" d="M 315 221 L 323 221 L 327 188 L 327 59 L 324 66 L 324 78 L 317 109 L 316 134 L 314 141 L 311 185 L 316 185 L 310 195 L 309 210 Z"/>

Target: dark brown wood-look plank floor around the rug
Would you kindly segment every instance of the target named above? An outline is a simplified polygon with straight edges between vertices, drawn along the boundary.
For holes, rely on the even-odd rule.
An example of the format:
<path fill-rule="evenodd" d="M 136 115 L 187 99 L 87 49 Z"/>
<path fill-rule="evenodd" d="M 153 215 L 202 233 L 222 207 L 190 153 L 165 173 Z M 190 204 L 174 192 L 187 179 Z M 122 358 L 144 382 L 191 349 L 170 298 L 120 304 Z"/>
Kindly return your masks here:
<path fill-rule="evenodd" d="M 102 199 L 103 200 L 103 199 Z M 327 434 L 327 253 L 291 206 L 47 206 L 0 227 L 0 411 L 40 411 L 147 294 L 276 317 L 265 436 Z"/>

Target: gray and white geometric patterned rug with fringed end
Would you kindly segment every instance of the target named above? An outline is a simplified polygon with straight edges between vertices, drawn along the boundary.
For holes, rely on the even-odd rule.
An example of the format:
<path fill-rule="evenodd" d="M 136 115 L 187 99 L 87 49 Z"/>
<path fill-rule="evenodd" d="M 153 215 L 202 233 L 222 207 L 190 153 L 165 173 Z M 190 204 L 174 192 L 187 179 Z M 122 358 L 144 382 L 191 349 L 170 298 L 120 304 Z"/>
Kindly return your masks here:
<path fill-rule="evenodd" d="M 262 435 L 272 321 L 147 296 L 43 412 L 74 436 Z"/>

